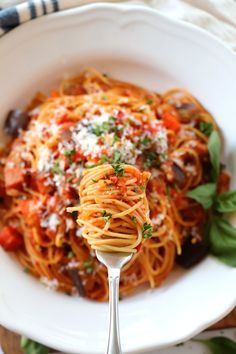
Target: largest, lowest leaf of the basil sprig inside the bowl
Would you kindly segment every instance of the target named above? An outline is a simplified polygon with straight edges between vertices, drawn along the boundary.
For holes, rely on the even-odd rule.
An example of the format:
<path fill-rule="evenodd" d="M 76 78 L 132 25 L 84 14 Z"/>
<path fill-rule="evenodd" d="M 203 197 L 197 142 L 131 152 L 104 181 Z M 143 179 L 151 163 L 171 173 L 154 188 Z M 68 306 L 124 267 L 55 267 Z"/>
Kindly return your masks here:
<path fill-rule="evenodd" d="M 220 216 L 214 216 L 209 237 L 210 253 L 222 262 L 236 267 L 236 228 Z"/>

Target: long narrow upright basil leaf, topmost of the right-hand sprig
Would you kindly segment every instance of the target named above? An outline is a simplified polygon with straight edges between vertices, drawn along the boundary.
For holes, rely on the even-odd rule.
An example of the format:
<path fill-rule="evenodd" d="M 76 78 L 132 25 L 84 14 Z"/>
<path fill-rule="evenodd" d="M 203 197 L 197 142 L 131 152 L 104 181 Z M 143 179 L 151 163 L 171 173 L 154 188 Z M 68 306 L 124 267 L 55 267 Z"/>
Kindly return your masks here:
<path fill-rule="evenodd" d="M 217 181 L 220 172 L 220 150 L 220 136 L 216 131 L 213 131 L 208 141 L 208 151 L 212 164 L 212 178 L 214 182 Z"/>

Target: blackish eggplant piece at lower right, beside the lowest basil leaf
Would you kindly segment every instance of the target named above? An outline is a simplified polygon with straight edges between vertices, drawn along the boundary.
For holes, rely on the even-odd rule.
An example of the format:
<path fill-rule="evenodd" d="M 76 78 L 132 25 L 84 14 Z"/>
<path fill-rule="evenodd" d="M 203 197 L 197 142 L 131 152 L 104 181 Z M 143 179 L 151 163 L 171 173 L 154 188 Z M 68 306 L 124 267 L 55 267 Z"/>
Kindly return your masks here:
<path fill-rule="evenodd" d="M 192 243 L 192 238 L 188 237 L 182 246 L 182 253 L 176 257 L 176 263 L 183 268 L 191 268 L 207 256 L 208 250 L 205 241 Z"/>

